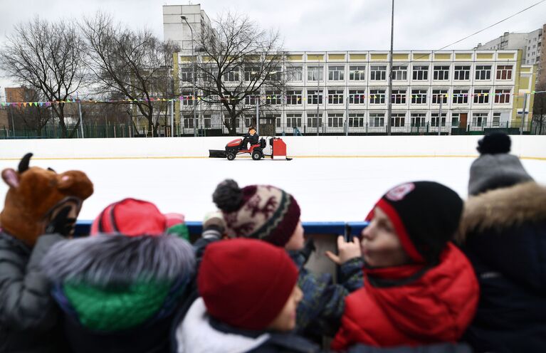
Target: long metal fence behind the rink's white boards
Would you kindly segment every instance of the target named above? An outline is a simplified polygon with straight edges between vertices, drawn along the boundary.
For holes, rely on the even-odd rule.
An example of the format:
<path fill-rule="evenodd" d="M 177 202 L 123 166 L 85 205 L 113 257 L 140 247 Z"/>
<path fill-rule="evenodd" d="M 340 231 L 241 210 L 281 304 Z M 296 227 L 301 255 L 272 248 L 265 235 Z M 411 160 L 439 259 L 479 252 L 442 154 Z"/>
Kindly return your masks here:
<path fill-rule="evenodd" d="M 81 127 L 68 126 L 68 135 L 81 138 Z M 318 129 L 315 124 L 290 125 L 290 124 L 266 124 L 260 125 L 259 135 L 262 136 L 362 136 L 362 135 L 387 135 L 387 125 L 374 126 L 363 124 L 362 126 L 328 126 L 321 124 Z M 317 131 L 318 130 L 318 131 Z M 248 131 L 246 125 L 236 127 L 236 135 L 242 135 Z M 70 135 L 73 132 L 73 135 Z M 546 135 L 546 124 L 536 122 L 493 122 L 483 125 L 448 126 L 439 127 L 426 123 L 424 125 L 393 125 L 392 135 L 485 135 L 490 132 L 505 132 L 509 135 Z M 83 125 L 83 137 L 85 138 L 110 138 L 110 137 L 209 137 L 228 136 L 229 130 L 223 124 L 200 124 L 196 129 L 175 124 L 174 130 L 170 126 L 160 126 L 157 135 L 147 130 L 147 127 L 135 128 L 129 124 Z M 0 127 L 0 139 L 51 139 L 61 137 L 61 127 L 58 125 L 46 125 L 40 133 L 30 129 L 11 129 Z"/>

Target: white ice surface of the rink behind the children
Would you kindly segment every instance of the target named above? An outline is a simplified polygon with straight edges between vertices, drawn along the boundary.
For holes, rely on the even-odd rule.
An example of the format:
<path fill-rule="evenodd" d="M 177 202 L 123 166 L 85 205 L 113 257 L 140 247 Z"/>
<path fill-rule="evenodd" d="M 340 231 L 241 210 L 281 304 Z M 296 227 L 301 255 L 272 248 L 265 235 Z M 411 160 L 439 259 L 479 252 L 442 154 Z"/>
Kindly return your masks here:
<path fill-rule="evenodd" d="M 473 158 L 295 158 L 292 161 L 237 158 L 165 159 L 48 159 L 31 166 L 57 172 L 80 169 L 95 184 L 80 220 L 91 220 L 113 201 L 134 197 L 153 201 L 159 209 L 181 212 L 187 221 L 201 221 L 215 209 L 211 194 L 219 181 L 231 178 L 239 186 L 272 184 L 298 200 L 303 221 L 362 221 L 384 191 L 404 181 L 433 180 L 467 196 L 468 170 Z M 523 159 L 536 181 L 546 184 L 546 161 Z M 19 162 L 0 160 L 0 169 Z M 7 186 L 0 185 L 4 199 Z"/>

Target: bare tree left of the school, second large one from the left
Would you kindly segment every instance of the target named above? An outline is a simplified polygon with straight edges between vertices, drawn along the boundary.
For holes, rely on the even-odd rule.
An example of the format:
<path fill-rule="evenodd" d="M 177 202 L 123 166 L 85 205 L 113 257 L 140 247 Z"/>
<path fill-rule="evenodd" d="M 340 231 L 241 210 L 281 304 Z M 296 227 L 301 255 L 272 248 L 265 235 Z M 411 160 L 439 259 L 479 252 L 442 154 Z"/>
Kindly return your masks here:
<path fill-rule="evenodd" d="M 148 132 L 157 136 L 159 112 L 166 102 L 154 98 L 172 98 L 168 87 L 172 75 L 173 43 L 163 43 L 151 31 L 132 31 L 114 23 L 112 17 L 98 13 L 81 25 L 90 48 L 88 65 L 95 74 L 95 88 L 101 94 L 120 93 L 147 119 Z M 167 87 L 166 87 L 167 86 Z M 154 115 L 154 110 L 157 114 Z"/>

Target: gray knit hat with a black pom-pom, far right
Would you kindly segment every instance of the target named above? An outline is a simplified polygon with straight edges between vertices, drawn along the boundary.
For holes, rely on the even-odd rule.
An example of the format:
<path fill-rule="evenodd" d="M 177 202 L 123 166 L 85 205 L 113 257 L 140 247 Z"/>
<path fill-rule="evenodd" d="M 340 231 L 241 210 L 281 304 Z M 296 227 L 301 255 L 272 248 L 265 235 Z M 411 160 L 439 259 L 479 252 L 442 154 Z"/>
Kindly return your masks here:
<path fill-rule="evenodd" d="M 478 141 L 481 156 L 470 168 L 468 194 L 477 195 L 488 190 L 531 181 L 520 159 L 510 152 L 510 137 L 502 133 L 486 135 Z"/>

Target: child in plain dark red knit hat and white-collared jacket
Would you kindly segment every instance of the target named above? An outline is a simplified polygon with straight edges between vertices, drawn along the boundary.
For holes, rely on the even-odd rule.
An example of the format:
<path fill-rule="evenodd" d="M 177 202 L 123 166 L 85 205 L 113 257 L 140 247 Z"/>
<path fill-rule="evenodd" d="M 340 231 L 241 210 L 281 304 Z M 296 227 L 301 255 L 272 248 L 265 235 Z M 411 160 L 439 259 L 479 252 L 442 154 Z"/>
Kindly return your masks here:
<path fill-rule="evenodd" d="M 199 268 L 201 297 L 177 328 L 177 352 L 317 352 L 290 334 L 302 297 L 297 281 L 278 247 L 245 238 L 211 243 Z"/>

